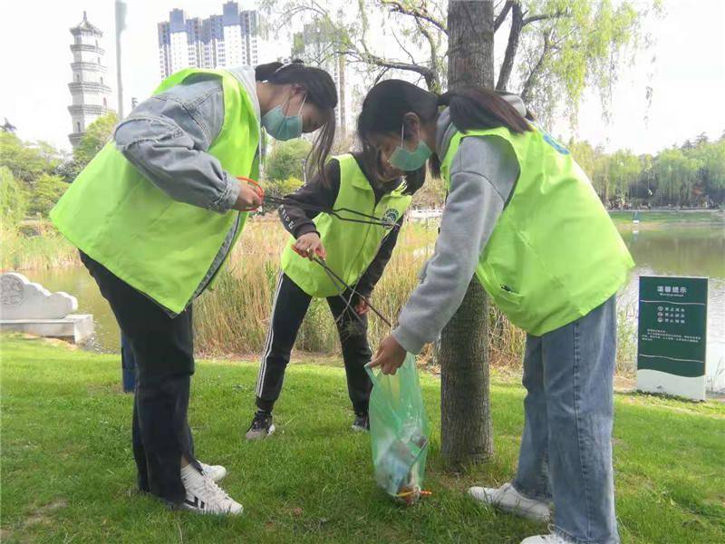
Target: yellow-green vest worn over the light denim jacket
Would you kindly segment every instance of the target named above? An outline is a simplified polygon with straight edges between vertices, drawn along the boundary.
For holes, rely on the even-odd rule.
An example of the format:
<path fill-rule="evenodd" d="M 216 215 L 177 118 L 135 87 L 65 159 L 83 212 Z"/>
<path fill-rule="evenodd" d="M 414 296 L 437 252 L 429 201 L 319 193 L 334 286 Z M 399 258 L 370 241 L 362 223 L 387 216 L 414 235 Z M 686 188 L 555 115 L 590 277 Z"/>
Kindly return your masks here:
<path fill-rule="evenodd" d="M 154 94 L 199 73 L 218 76 L 224 92 L 224 123 L 208 153 L 231 175 L 256 179 L 259 121 L 237 78 L 226 70 L 182 70 Z M 191 302 L 237 213 L 219 214 L 172 199 L 110 141 L 73 181 L 51 219 L 75 247 L 179 314 Z M 246 219 L 242 214 L 237 238 Z"/>

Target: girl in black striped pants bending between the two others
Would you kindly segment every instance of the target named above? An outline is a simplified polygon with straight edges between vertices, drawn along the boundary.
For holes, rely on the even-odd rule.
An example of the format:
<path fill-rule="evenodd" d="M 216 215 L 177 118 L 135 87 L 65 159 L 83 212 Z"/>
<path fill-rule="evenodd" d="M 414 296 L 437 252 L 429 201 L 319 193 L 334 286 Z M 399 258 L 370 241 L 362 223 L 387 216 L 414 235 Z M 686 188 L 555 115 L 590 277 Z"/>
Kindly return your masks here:
<path fill-rule="evenodd" d="M 279 207 L 280 219 L 293 238 L 282 254 L 256 384 L 257 411 L 247 440 L 265 438 L 275 431 L 272 409 L 282 392 L 290 352 L 312 298 L 326 298 L 337 325 L 355 413 L 353 430 L 369 429 L 372 383 L 364 368 L 372 355 L 367 338 L 368 308 L 357 294 L 344 292 L 345 287 L 310 258 L 323 257 L 326 266 L 356 293 L 371 296 L 397 243 L 410 195 L 425 180 L 425 167 L 409 172 L 403 181 L 401 170 L 375 168 L 377 160 L 377 155 L 366 160 L 362 152 L 335 157 L 325 166 L 324 178 L 310 180 L 287 195 Z M 383 219 L 383 224 L 357 222 L 362 216 L 349 211 L 333 216 L 319 213 L 320 209 L 353 210 Z"/>

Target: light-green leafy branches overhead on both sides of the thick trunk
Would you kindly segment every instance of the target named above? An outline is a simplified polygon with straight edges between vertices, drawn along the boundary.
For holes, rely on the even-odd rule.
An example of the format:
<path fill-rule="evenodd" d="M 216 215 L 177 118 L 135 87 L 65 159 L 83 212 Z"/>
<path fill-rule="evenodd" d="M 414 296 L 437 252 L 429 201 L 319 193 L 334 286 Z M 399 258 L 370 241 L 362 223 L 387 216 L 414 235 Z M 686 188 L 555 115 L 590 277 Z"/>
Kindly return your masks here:
<path fill-rule="evenodd" d="M 575 121 L 587 87 L 608 111 L 617 67 L 647 44 L 643 20 L 662 11 L 660 0 L 483 1 L 494 10 L 496 40 L 506 44 L 490 86 L 520 93 L 543 121 L 554 112 Z M 291 30 L 305 15 L 324 24 L 331 46 L 323 56 L 344 55 L 366 82 L 402 76 L 434 92 L 449 87 L 454 49 L 443 0 L 357 0 L 344 9 L 333 0 L 263 0 L 261 6 L 275 32 Z"/>

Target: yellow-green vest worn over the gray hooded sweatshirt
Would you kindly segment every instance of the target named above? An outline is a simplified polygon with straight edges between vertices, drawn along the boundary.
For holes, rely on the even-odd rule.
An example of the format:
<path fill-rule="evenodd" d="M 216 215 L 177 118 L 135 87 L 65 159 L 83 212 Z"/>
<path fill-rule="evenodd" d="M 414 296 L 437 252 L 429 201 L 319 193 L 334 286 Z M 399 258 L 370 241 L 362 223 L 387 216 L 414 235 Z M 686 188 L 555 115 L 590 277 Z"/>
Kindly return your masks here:
<path fill-rule="evenodd" d="M 520 169 L 476 268 L 511 323 L 544 335 L 613 296 L 634 262 L 569 151 L 536 127 L 521 134 L 503 127 L 457 132 L 441 163 L 448 187 L 460 141 L 471 136 L 507 141 Z"/>

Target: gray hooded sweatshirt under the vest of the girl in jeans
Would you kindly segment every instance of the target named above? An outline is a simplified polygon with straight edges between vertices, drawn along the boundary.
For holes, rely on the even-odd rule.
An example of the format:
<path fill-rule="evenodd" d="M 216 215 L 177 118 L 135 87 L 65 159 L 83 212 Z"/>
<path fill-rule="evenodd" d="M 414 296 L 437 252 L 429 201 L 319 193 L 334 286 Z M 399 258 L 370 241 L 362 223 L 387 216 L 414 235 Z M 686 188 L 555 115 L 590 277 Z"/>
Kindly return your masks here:
<path fill-rule="evenodd" d="M 517 97 L 506 98 L 520 113 L 526 111 Z M 441 159 L 455 133 L 447 109 L 436 127 L 436 154 Z M 507 141 L 496 136 L 461 141 L 450 165 L 450 191 L 435 251 L 392 331 L 411 354 L 436 340 L 460 306 L 518 174 L 518 161 Z"/>

